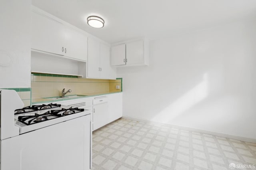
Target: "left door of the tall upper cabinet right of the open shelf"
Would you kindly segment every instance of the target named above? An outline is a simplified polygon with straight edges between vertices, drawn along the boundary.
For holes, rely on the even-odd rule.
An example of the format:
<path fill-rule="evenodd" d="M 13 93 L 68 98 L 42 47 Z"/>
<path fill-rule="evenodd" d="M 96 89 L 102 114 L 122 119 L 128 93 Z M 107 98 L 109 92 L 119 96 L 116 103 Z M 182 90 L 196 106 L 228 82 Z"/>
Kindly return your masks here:
<path fill-rule="evenodd" d="M 100 78 L 100 42 L 88 38 L 87 77 Z"/>

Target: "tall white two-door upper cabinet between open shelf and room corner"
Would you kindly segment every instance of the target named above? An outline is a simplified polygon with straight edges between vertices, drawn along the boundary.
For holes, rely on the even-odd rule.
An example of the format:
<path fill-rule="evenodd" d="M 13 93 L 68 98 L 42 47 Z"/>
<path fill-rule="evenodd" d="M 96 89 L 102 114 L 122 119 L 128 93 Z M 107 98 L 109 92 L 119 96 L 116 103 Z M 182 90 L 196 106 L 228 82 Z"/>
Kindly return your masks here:
<path fill-rule="evenodd" d="M 110 65 L 110 47 L 88 38 L 87 78 L 116 79 L 116 68 Z"/>

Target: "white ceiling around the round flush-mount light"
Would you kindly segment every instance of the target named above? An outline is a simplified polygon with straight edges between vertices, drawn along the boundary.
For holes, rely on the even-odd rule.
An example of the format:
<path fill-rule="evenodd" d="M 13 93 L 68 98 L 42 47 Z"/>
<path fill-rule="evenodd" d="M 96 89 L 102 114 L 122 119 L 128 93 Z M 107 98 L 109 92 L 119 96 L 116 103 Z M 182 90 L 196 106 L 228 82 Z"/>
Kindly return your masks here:
<path fill-rule="evenodd" d="M 32 4 L 109 43 L 164 38 L 254 18 L 256 0 L 32 0 Z M 104 28 L 87 25 L 90 15 Z"/>

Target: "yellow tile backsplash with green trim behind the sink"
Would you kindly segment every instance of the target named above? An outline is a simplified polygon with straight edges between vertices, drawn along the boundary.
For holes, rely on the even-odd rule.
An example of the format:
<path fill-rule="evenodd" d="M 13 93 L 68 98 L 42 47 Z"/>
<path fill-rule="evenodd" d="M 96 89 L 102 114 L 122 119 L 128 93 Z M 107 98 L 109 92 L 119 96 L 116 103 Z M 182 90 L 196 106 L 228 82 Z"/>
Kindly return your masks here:
<path fill-rule="evenodd" d="M 116 89 L 116 85 L 120 89 Z M 55 74 L 31 74 L 32 102 L 45 97 L 57 97 L 62 89 L 71 89 L 67 95 L 94 95 L 122 91 L 122 78 L 116 80 L 84 79 L 76 76 Z"/>

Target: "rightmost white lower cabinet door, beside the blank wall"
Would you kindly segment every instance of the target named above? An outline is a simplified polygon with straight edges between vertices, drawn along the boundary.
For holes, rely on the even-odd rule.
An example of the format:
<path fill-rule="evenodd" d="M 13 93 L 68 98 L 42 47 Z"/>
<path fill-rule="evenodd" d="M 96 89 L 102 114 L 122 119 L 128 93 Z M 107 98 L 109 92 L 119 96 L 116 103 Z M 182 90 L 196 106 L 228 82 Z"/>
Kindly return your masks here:
<path fill-rule="evenodd" d="M 122 93 L 108 95 L 108 123 L 122 117 Z"/>

